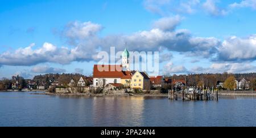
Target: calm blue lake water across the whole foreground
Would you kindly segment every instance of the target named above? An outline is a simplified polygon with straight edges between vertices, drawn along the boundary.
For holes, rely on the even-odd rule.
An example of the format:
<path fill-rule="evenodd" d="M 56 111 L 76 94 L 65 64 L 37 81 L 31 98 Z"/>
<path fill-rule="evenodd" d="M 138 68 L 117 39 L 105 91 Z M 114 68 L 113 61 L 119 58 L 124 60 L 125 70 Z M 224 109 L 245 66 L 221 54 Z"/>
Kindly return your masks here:
<path fill-rule="evenodd" d="M 0 126 L 256 126 L 256 98 L 183 102 L 0 92 Z"/>

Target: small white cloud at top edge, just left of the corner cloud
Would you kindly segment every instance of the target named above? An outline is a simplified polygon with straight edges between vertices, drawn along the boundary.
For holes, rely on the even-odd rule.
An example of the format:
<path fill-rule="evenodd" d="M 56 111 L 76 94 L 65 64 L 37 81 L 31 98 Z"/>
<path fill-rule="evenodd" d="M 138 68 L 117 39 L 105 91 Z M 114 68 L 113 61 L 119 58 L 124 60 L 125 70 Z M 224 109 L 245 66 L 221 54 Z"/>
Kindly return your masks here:
<path fill-rule="evenodd" d="M 222 16 L 228 14 L 227 10 L 221 9 L 216 5 L 218 1 L 216 0 L 207 0 L 203 3 L 203 8 L 207 11 L 210 15 L 213 16 Z"/>

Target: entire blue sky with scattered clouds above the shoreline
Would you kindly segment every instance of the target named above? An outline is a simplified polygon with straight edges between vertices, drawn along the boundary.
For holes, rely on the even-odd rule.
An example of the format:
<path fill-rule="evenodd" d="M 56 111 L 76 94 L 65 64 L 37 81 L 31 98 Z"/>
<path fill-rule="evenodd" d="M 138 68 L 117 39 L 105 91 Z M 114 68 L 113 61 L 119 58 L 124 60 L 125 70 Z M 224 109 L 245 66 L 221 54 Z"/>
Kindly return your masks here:
<path fill-rule="evenodd" d="M 91 75 L 97 50 L 122 50 L 124 42 L 129 50 L 168 57 L 160 59 L 160 74 L 256 71 L 255 0 L 0 0 L 0 5 L 0 77 Z"/>

